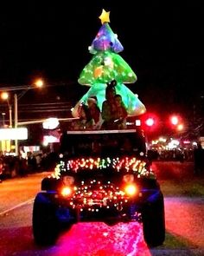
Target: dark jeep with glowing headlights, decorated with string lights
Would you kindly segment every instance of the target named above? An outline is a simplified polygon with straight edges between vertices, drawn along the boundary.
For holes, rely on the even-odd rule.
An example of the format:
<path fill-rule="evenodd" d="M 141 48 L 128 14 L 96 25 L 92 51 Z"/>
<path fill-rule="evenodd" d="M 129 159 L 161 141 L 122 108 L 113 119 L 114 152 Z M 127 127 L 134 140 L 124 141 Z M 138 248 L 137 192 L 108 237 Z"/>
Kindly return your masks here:
<path fill-rule="evenodd" d="M 150 166 L 139 129 L 63 133 L 59 162 L 35 196 L 35 242 L 53 244 L 79 221 L 140 221 L 147 245 L 162 245 L 163 193 Z"/>

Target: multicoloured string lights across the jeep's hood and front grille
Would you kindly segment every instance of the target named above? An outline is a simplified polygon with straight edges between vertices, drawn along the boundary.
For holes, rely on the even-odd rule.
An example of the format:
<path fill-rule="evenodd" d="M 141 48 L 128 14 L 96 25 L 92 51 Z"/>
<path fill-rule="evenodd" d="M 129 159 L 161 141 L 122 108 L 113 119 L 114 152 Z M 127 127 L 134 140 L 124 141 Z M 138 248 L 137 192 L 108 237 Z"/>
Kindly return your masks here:
<path fill-rule="evenodd" d="M 154 178 L 155 175 L 146 169 L 145 161 L 137 160 L 136 157 L 123 157 L 123 158 L 79 158 L 69 160 L 67 162 L 61 161 L 54 170 L 53 177 L 61 179 L 61 174 L 66 174 L 67 171 L 78 173 L 83 170 L 102 170 L 112 168 L 117 172 L 123 171 L 125 174 L 133 172 L 137 178 L 148 176 Z M 135 184 L 135 183 L 134 183 Z M 137 184 L 136 184 L 137 185 Z M 80 181 L 80 186 L 72 187 L 72 194 L 63 197 L 67 200 L 69 207 L 73 209 L 78 208 L 80 212 L 94 212 L 99 213 L 103 209 L 122 209 L 130 203 L 130 196 L 125 194 L 124 189 L 107 181 L 103 184 L 101 181 L 92 179 L 91 181 Z M 141 191 L 136 194 L 137 197 L 142 197 Z"/>

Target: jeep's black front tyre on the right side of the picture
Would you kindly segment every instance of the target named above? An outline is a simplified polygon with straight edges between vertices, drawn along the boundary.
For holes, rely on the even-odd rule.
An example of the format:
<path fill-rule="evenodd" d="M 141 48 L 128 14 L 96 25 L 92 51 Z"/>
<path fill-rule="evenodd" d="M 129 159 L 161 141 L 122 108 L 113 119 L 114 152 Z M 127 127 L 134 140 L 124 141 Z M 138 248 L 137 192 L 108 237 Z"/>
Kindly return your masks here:
<path fill-rule="evenodd" d="M 161 246 L 165 240 L 165 215 L 163 195 L 143 209 L 143 238 L 148 246 Z"/>

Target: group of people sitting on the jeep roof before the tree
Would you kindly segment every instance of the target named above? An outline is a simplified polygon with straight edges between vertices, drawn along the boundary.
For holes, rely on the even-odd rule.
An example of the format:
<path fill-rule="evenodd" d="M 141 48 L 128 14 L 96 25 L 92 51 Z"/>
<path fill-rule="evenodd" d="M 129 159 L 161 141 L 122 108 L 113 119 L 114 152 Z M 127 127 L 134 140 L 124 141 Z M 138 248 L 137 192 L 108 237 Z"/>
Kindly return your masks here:
<path fill-rule="evenodd" d="M 105 89 L 105 101 L 102 109 L 98 106 L 98 99 L 95 95 L 81 102 L 79 108 L 79 120 L 73 121 L 73 129 L 112 129 L 126 128 L 127 110 L 121 95 L 116 93 L 117 82 L 108 82 Z"/>

